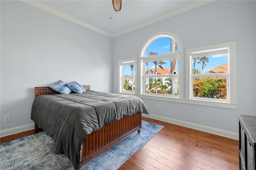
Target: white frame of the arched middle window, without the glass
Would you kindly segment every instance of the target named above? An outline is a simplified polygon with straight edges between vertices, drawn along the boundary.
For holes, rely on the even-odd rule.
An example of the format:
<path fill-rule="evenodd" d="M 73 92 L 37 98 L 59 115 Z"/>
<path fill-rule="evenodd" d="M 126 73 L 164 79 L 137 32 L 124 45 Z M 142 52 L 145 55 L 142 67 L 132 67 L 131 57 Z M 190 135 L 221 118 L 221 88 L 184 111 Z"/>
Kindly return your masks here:
<path fill-rule="evenodd" d="M 154 42 L 155 40 L 159 39 L 159 38 L 171 38 L 173 40 L 175 40 L 178 45 L 180 50 L 176 51 L 176 52 L 170 52 L 170 53 L 164 53 L 164 54 L 159 54 L 159 55 L 152 55 L 152 56 L 147 56 L 145 57 L 145 53 L 146 50 L 148 48 L 148 46 Z M 182 63 L 182 43 L 180 41 L 180 39 L 175 36 L 174 34 L 170 33 L 170 32 L 158 32 L 156 34 L 153 34 L 152 36 L 150 36 L 150 38 L 148 38 L 142 45 L 142 48 L 140 49 L 140 64 L 138 65 L 139 67 L 139 73 L 140 73 L 140 80 L 138 81 L 138 85 L 140 87 L 139 91 L 137 94 L 140 94 L 144 97 L 142 98 L 149 98 L 149 99 L 156 99 L 156 100 L 162 100 L 165 98 L 179 98 L 180 96 L 183 95 L 183 92 L 180 91 L 180 89 L 183 87 L 182 85 L 182 75 L 180 74 L 176 74 L 176 75 L 144 75 L 144 63 L 145 62 L 152 62 L 152 61 L 160 61 L 160 60 L 169 60 L 169 59 L 179 59 L 179 63 Z M 178 63 L 178 64 L 179 64 Z M 182 65 L 179 64 L 179 73 L 180 70 L 182 69 Z M 179 79 L 179 95 L 161 95 L 161 94 L 155 94 L 155 93 L 144 93 L 144 78 L 145 77 L 172 77 L 172 76 L 177 76 L 178 75 L 178 79 Z"/>

